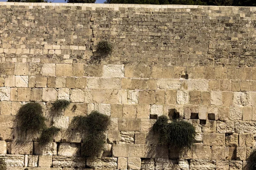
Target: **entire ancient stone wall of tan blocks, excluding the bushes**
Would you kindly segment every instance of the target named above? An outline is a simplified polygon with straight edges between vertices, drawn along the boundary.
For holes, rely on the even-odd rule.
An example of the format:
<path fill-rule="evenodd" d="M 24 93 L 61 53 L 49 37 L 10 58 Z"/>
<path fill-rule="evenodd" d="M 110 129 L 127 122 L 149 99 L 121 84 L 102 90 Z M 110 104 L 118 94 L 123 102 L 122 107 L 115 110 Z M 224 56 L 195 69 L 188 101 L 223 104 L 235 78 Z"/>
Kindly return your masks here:
<path fill-rule="evenodd" d="M 0 158 L 8 170 L 241 170 L 256 144 L 255 38 L 255 7 L 1 2 Z M 102 40 L 113 53 L 99 62 Z M 56 99 L 71 105 L 53 142 L 20 135 L 20 106 L 49 118 Z M 112 123 L 102 157 L 82 157 L 68 128 L 93 110 Z M 156 117 L 174 113 L 196 128 L 185 154 L 153 140 Z"/>

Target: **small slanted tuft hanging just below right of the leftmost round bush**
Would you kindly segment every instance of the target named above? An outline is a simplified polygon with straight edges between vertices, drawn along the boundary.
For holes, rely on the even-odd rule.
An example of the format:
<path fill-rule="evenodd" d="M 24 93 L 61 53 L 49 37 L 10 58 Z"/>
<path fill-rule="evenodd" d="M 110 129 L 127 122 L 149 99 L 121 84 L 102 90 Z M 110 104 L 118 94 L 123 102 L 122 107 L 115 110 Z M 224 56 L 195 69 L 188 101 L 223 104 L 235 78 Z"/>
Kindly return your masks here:
<path fill-rule="evenodd" d="M 53 137 L 57 135 L 60 130 L 60 128 L 57 128 L 55 126 L 45 128 L 42 131 L 41 136 L 39 137 L 39 142 L 41 144 L 45 142 L 52 142 Z"/>

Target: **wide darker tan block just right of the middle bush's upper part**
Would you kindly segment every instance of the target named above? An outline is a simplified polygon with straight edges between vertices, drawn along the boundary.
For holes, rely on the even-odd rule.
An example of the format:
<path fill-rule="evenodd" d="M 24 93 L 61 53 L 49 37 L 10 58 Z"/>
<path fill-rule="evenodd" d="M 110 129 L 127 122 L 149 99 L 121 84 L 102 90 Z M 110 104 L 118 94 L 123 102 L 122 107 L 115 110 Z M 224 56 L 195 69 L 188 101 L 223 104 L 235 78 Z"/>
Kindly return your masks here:
<path fill-rule="evenodd" d="M 119 119 L 118 130 L 140 131 L 140 119 Z"/>

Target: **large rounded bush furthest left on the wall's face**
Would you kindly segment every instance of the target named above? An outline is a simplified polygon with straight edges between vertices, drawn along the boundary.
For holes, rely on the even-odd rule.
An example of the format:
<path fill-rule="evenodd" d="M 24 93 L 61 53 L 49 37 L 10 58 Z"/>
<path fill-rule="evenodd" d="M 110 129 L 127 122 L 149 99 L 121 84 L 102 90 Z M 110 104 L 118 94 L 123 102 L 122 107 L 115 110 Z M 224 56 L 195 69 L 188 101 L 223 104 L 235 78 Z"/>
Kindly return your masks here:
<path fill-rule="evenodd" d="M 46 127 L 42 106 L 39 103 L 29 102 L 23 105 L 16 116 L 22 130 L 38 131 Z"/>

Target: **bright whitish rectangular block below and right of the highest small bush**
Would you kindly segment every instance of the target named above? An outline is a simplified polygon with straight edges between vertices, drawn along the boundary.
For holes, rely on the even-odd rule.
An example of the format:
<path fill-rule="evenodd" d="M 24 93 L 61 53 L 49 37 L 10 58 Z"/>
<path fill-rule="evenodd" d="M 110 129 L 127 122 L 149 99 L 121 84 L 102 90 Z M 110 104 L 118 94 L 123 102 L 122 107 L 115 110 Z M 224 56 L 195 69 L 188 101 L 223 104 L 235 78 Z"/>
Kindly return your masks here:
<path fill-rule="evenodd" d="M 103 65 L 102 77 L 124 77 L 124 65 Z"/>

